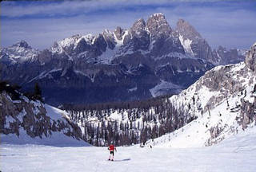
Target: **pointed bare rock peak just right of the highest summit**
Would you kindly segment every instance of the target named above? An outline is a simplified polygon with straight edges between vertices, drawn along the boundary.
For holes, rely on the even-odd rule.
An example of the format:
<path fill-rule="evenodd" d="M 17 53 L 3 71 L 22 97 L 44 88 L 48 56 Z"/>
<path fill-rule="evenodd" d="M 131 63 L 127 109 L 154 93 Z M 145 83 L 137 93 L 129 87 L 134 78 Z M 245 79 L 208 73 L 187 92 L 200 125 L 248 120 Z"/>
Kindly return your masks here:
<path fill-rule="evenodd" d="M 177 22 L 177 28 L 176 30 L 178 31 L 178 33 L 180 33 L 181 35 L 185 36 L 185 37 L 200 37 L 201 35 L 200 33 L 198 33 L 198 31 L 196 29 L 194 29 L 194 27 L 192 25 L 190 25 L 189 22 L 186 22 L 183 19 L 179 19 Z"/>

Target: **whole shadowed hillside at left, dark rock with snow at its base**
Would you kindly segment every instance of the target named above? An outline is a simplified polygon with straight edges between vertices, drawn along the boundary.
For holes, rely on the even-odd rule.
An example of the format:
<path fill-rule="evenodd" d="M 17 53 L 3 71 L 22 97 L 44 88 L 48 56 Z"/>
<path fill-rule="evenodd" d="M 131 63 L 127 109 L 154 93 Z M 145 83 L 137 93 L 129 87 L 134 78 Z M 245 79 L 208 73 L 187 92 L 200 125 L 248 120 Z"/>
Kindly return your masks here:
<path fill-rule="evenodd" d="M 1 144 L 89 146 L 69 115 L 58 108 L 30 100 L 9 84 L 1 83 Z M 2 89 L 4 88 L 4 89 Z"/>

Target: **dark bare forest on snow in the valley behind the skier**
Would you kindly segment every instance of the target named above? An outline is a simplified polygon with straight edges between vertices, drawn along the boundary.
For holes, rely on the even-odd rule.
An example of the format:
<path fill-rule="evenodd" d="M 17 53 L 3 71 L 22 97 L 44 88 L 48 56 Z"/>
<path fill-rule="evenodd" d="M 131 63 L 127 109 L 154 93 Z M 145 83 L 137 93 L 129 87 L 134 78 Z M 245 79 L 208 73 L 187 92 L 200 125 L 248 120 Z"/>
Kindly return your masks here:
<path fill-rule="evenodd" d="M 155 139 L 191 120 L 182 104 L 173 106 L 166 97 L 109 104 L 64 104 L 70 119 L 78 123 L 86 142 L 94 146 L 125 146 Z"/>

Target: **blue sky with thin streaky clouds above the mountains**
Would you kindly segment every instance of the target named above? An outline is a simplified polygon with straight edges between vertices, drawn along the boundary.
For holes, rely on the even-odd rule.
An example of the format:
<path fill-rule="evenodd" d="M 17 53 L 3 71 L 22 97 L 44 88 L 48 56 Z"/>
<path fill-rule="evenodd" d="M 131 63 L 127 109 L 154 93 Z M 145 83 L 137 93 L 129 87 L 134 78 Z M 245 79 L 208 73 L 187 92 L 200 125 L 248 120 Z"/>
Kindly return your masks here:
<path fill-rule="evenodd" d="M 129 29 L 154 13 L 165 14 L 172 28 L 178 18 L 185 19 L 213 48 L 248 49 L 256 41 L 256 1 L 251 0 L 11 1 L 0 8 L 3 47 L 25 40 L 46 49 L 78 33 Z"/>

